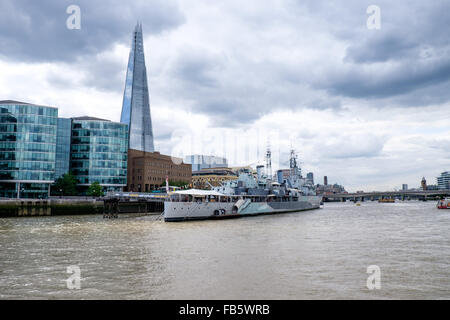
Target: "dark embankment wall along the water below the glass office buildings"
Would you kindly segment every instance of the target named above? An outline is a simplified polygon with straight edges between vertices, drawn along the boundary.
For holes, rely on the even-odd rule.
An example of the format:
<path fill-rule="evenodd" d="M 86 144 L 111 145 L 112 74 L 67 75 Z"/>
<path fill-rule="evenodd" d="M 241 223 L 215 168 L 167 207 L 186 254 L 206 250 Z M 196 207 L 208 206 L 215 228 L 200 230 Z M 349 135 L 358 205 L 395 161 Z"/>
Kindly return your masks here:
<path fill-rule="evenodd" d="M 96 199 L 0 200 L 0 218 L 102 214 L 103 210 L 103 201 Z"/>

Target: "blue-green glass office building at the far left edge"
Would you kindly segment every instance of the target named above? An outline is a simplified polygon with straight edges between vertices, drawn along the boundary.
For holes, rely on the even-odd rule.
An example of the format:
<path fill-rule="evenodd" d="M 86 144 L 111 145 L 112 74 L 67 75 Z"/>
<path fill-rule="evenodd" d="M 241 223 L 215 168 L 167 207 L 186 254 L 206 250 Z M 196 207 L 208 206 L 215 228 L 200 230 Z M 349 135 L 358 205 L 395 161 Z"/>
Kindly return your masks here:
<path fill-rule="evenodd" d="M 0 101 L 0 197 L 46 198 L 54 182 L 58 109 Z"/>

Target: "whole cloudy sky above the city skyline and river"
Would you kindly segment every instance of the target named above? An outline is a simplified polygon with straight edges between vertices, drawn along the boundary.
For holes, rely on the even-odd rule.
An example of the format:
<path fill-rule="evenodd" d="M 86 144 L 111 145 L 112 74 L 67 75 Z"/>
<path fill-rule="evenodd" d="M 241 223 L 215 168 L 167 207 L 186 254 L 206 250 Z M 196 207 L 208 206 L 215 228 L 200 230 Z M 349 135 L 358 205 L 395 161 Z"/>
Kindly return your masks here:
<path fill-rule="evenodd" d="M 254 165 L 270 144 L 275 170 L 293 147 L 350 191 L 450 170 L 448 0 L 0 0 L 0 100 L 119 121 L 138 20 L 162 153 Z"/>

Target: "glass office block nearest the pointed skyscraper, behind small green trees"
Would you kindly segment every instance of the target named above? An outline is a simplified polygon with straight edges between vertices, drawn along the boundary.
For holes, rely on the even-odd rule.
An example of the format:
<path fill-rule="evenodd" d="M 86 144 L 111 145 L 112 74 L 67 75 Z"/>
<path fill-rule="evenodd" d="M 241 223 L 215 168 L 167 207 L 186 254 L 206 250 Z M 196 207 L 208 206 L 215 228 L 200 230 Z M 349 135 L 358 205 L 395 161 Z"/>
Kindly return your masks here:
<path fill-rule="evenodd" d="M 70 170 L 82 192 L 93 182 L 104 191 L 127 184 L 128 126 L 108 120 L 72 118 Z"/>

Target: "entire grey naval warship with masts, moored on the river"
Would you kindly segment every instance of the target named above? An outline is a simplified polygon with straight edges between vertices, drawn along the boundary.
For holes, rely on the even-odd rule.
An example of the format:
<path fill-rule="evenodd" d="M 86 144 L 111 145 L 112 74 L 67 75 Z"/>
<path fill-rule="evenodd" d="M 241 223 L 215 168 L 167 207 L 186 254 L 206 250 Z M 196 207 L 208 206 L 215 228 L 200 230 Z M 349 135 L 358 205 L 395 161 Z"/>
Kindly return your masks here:
<path fill-rule="evenodd" d="M 291 151 L 289 176 L 274 181 L 270 150 L 266 170 L 258 166 L 256 177 L 242 169 L 237 180 L 211 190 L 172 192 L 164 202 L 164 221 L 237 218 L 318 209 L 322 201 L 314 185 L 301 175 L 295 152 Z"/>

